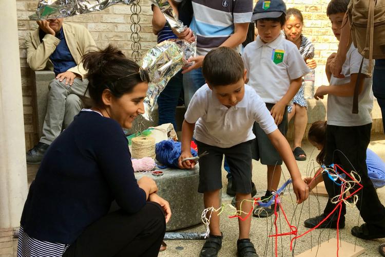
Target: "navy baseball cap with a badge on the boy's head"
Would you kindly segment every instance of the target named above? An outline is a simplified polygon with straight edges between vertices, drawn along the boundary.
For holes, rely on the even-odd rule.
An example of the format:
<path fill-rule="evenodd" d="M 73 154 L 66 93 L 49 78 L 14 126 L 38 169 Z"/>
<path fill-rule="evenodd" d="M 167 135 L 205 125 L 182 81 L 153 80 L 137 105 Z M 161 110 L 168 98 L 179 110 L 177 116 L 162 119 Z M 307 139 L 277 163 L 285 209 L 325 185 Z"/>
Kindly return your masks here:
<path fill-rule="evenodd" d="M 254 7 L 252 22 L 265 18 L 278 18 L 286 14 L 286 5 L 283 0 L 258 0 Z"/>

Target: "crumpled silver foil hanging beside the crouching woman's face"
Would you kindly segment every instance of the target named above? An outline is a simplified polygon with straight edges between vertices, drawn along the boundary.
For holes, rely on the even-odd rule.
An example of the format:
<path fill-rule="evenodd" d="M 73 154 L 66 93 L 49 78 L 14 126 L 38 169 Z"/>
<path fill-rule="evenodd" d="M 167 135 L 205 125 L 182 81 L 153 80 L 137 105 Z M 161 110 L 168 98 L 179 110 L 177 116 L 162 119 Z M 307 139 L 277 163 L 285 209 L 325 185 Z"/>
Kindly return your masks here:
<path fill-rule="evenodd" d="M 148 50 L 142 60 L 142 67 L 148 71 L 150 83 L 147 96 L 144 99 L 142 115 L 152 121 L 152 111 L 156 106 L 159 94 L 168 81 L 187 63 L 190 57 L 195 57 L 197 42 L 189 43 L 186 40 L 166 40 Z"/>

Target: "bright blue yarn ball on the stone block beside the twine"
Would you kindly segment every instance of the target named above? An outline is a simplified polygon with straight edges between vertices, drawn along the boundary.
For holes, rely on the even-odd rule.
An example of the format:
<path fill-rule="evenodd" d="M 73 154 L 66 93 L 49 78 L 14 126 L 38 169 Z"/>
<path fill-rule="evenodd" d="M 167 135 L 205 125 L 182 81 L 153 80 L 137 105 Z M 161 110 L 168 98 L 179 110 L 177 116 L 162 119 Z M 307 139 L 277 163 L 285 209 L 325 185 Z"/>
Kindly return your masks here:
<path fill-rule="evenodd" d="M 179 168 L 178 159 L 181 156 L 181 142 L 176 142 L 174 140 L 163 140 L 155 145 L 155 153 L 157 155 L 157 160 L 169 168 Z M 191 148 L 192 156 L 197 156 L 198 153 Z"/>

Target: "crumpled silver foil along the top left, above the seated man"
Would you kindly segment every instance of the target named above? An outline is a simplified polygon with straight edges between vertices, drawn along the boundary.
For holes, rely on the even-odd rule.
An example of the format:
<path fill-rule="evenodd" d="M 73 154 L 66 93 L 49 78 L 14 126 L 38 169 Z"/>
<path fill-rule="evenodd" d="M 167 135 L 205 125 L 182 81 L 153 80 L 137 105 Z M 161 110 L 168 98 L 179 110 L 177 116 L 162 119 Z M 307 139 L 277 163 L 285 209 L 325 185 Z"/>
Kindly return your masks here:
<path fill-rule="evenodd" d="M 88 12 L 101 11 L 115 4 L 131 4 L 132 0 L 40 0 L 30 20 L 63 18 Z"/>

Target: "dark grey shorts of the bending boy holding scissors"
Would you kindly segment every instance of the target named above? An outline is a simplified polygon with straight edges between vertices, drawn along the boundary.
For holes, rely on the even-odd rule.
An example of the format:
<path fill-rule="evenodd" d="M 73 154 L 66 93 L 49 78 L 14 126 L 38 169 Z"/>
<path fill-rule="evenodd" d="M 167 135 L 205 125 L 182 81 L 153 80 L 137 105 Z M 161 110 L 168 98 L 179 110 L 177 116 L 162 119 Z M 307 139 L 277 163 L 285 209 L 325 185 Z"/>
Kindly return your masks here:
<path fill-rule="evenodd" d="M 222 188 L 222 160 L 224 155 L 232 171 L 232 189 L 241 194 L 251 193 L 252 141 L 243 142 L 230 148 L 219 148 L 197 141 L 198 154 L 205 151 L 208 153 L 199 159 L 198 192 L 204 193 Z"/>

